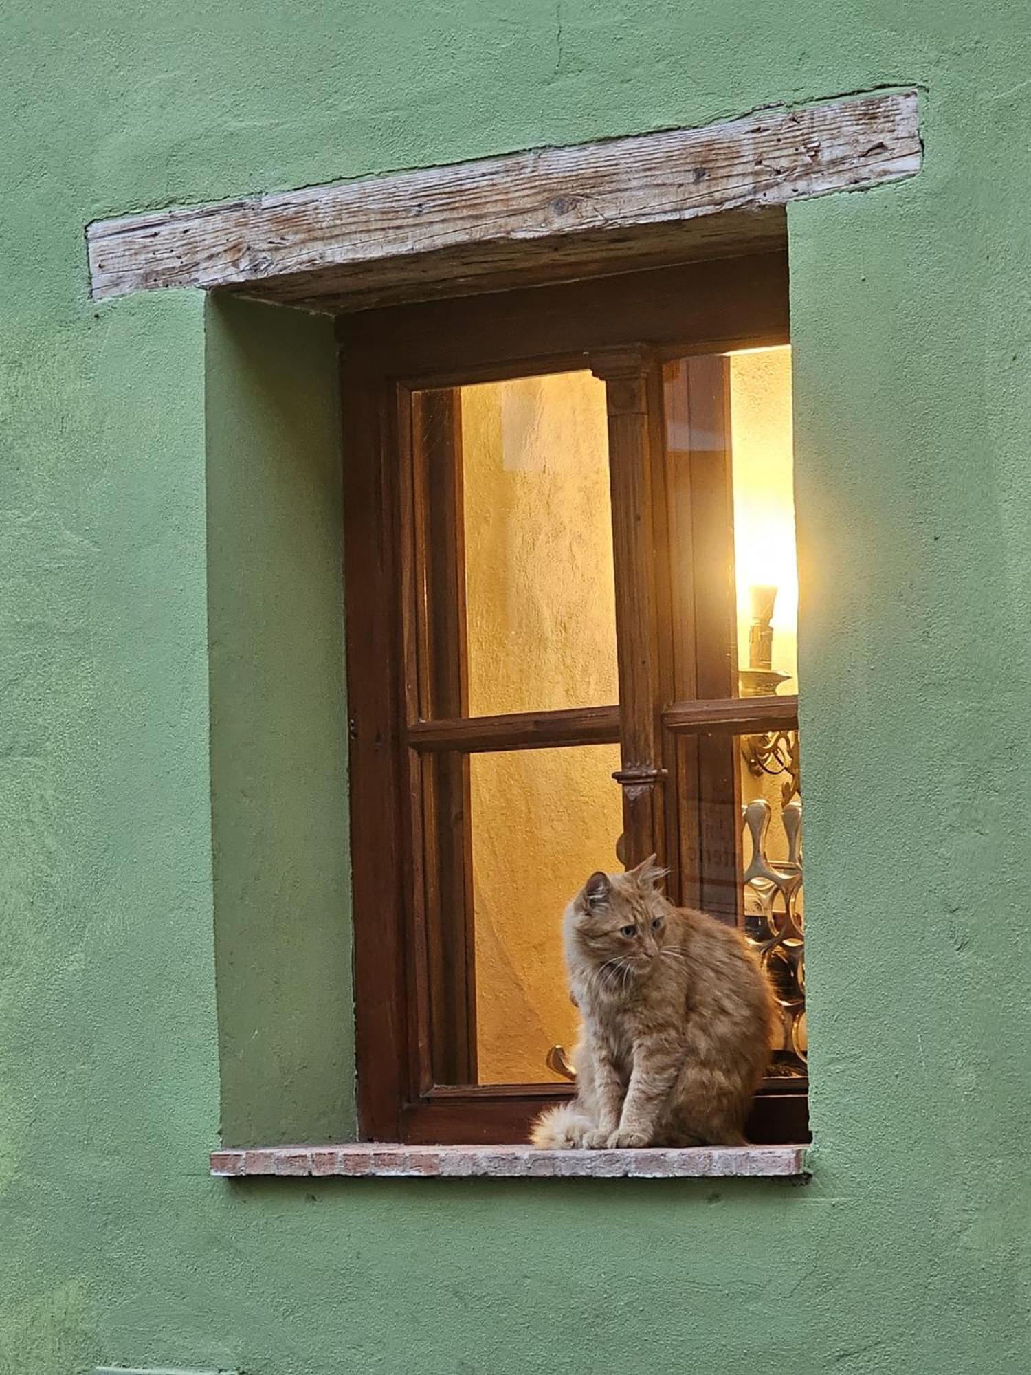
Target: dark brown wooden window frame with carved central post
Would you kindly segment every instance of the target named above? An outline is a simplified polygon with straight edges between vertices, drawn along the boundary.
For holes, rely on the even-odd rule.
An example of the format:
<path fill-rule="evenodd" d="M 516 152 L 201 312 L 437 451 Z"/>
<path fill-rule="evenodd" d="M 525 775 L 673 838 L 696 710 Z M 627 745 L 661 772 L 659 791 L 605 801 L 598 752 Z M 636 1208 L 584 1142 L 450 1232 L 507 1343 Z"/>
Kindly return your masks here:
<path fill-rule="evenodd" d="M 682 869 L 697 872 L 691 806 L 735 796 L 731 733 L 795 729 L 797 700 L 735 697 L 733 648 L 700 652 L 735 642 L 733 587 L 726 579 L 700 584 L 696 576 L 726 566 L 712 542 L 733 538 L 729 462 L 716 469 L 711 459 L 708 468 L 691 462 L 689 485 L 669 484 L 663 414 L 675 404 L 707 408 L 709 429 L 726 428 L 726 368 L 720 377 L 713 355 L 789 342 L 786 254 L 366 311 L 338 322 L 338 340 L 359 1136 L 520 1141 L 529 1119 L 572 1089 L 439 1084 L 443 1075 L 432 1070 L 444 1064 L 451 1079 L 467 1072 L 472 978 L 469 924 L 461 924 L 470 909 L 467 854 L 463 861 L 459 844 L 436 873 L 423 872 L 421 826 L 432 824 L 440 802 L 428 762 L 448 749 L 620 744 L 624 861 L 657 851 L 674 891 Z M 680 370 L 679 384 L 675 359 L 697 359 Z M 436 617 L 414 615 L 417 598 L 426 605 L 426 587 L 417 583 L 432 557 L 428 543 L 447 550 L 459 538 L 447 500 L 434 513 L 417 499 L 426 446 L 414 444 L 412 432 L 447 450 L 454 425 L 447 392 L 425 393 L 584 367 L 605 382 L 609 411 L 620 705 L 465 718 L 461 682 L 428 679 L 433 656 L 425 642 L 426 634 L 452 642 L 461 634 L 461 617 L 448 624 L 461 590 L 451 588 Z M 445 484 L 454 477 L 447 462 L 434 470 Z M 705 546 L 702 557 L 675 573 L 671 549 L 691 542 Z M 441 708 L 429 718 L 428 701 Z M 463 786 L 461 770 L 440 786 Z M 731 828 L 727 852 L 737 855 L 734 808 L 722 811 Z M 434 899 L 441 884 L 456 902 Z M 733 921 L 738 913 L 727 894 L 735 884 L 734 873 L 701 874 L 682 896 Z M 444 910 L 452 914 L 448 930 L 440 928 Z M 454 956 L 448 969 L 433 954 L 445 942 Z M 762 1141 L 806 1140 L 806 1082 L 768 1081 L 749 1132 Z"/>

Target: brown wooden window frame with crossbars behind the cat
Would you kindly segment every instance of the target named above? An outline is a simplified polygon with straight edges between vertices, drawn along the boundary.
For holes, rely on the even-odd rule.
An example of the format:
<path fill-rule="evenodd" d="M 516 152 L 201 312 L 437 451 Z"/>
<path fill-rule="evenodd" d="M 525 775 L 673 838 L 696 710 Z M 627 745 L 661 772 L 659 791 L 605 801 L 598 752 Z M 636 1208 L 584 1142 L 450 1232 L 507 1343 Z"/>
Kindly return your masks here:
<path fill-rule="evenodd" d="M 414 510 L 411 474 L 417 461 L 410 444 L 412 395 L 473 381 L 591 367 L 606 384 L 613 522 L 628 517 L 650 528 L 656 503 L 647 484 L 664 448 L 657 432 L 663 363 L 786 344 L 786 279 L 784 253 L 756 254 L 384 308 L 340 322 L 356 1056 L 359 1134 L 364 1140 L 525 1140 L 533 1112 L 572 1092 L 554 1084 L 434 1082 L 434 1035 L 436 1063 L 441 1050 L 451 1056 L 445 1062 L 450 1077 L 461 1077 L 465 1053 L 461 1037 L 448 1041 L 454 1028 L 447 1019 L 441 1030 L 429 1013 L 430 979 L 443 978 L 440 969 L 432 969 L 433 950 L 441 947 L 443 939 L 451 940 L 455 980 L 466 997 L 472 980 L 467 924 L 465 938 L 461 930 L 429 932 L 428 923 L 439 920 L 439 912 L 434 914 L 430 902 L 421 917 L 415 898 L 425 894 L 428 881 L 422 847 L 412 840 L 414 822 L 423 808 L 411 803 L 412 798 L 426 802 L 423 759 L 455 748 L 619 742 L 624 858 L 632 862 L 656 848 L 667 851 L 667 862 L 675 869 L 682 818 L 676 807 L 667 808 L 664 817 L 663 778 L 671 769 L 685 767 L 678 741 L 712 740 L 713 732 L 797 726 L 795 698 L 735 698 L 729 661 L 713 670 L 711 663 L 697 660 L 690 644 L 665 648 L 668 637 L 660 634 L 660 620 L 671 616 L 669 606 L 663 606 L 669 597 L 669 578 L 657 578 L 656 569 L 667 551 L 656 554 L 650 539 L 619 534 L 619 707 L 469 719 L 463 716 L 462 685 L 455 681 L 434 689 L 445 715 L 423 719 L 419 701 L 426 700 L 426 682 L 419 682 L 419 674 L 425 674 L 428 659 L 425 646 L 419 653 L 415 642 L 418 626 L 404 612 L 417 595 L 426 597 L 425 587 L 417 588 L 412 531 L 406 529 Z M 447 418 L 437 417 L 433 424 L 445 426 Z M 411 518 L 418 527 L 433 516 L 418 512 Z M 667 521 L 683 518 L 690 520 L 690 512 L 663 512 L 656 543 L 664 544 Z M 726 520 L 724 527 L 729 531 Z M 415 529 L 417 538 L 425 534 Z M 452 529 L 440 538 L 458 536 Z M 709 600 L 708 594 L 708 588 L 698 590 L 698 605 Z M 726 595 L 716 604 L 726 615 Z M 683 616 L 678 624 L 685 624 Z M 678 654 L 679 666 L 674 661 Z M 676 689 L 685 683 L 691 690 L 678 696 Z M 722 693 L 723 700 L 707 700 L 707 689 L 713 686 L 718 692 L 711 696 Z M 657 712 L 660 701 L 664 710 Z M 704 774 L 697 748 L 690 759 L 689 767 Z M 440 881 L 440 876 L 432 876 L 432 892 L 439 891 Z M 467 874 L 452 866 L 447 881 L 455 892 L 465 886 L 467 899 Z M 705 894 L 697 896 L 705 899 Z M 456 1005 L 454 997 L 451 1004 Z M 459 1008 L 454 1022 L 461 1020 Z M 752 1130 L 759 1138 L 806 1136 L 804 1093 L 784 1088 L 782 1082 L 771 1084 L 757 1100 Z"/>

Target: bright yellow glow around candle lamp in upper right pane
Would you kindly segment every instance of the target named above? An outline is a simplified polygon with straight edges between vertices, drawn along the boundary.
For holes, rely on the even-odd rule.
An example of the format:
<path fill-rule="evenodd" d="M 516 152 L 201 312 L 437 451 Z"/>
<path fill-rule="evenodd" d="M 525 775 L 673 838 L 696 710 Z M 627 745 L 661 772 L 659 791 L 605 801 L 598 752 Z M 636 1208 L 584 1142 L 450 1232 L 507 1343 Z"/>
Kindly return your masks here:
<path fill-rule="evenodd" d="M 738 664 L 748 666 L 752 588 L 775 587 L 773 667 L 797 672 L 799 573 L 792 480 L 790 348 L 730 356 Z M 785 685 L 795 692 L 796 685 Z"/>

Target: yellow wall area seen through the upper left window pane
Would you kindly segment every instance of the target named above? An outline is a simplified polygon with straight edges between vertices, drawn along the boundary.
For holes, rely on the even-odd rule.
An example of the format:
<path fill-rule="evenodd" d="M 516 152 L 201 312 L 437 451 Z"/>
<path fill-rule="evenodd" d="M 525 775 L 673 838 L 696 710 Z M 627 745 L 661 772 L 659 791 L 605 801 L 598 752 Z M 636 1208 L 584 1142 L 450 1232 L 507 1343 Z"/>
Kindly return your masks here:
<path fill-rule="evenodd" d="M 467 711 L 619 700 L 605 385 L 462 386 Z"/>

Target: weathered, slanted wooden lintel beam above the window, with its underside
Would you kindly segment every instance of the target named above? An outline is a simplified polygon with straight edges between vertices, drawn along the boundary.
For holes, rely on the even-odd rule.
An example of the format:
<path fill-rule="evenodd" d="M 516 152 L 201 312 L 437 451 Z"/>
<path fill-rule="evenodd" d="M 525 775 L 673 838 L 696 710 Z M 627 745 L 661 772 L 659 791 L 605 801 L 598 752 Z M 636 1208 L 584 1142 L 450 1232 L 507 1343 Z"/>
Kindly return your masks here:
<path fill-rule="evenodd" d="M 96 220 L 93 298 L 225 289 L 320 311 L 500 290 L 785 242 L 784 206 L 911 176 L 916 91 L 701 129 Z"/>

